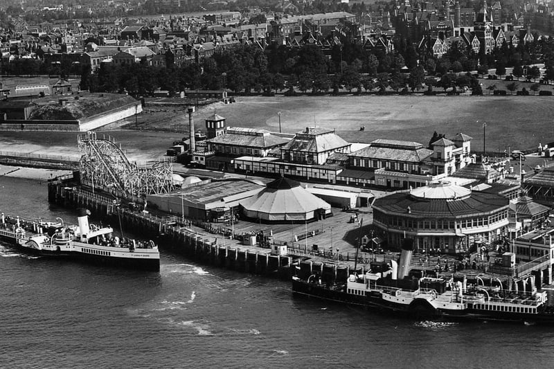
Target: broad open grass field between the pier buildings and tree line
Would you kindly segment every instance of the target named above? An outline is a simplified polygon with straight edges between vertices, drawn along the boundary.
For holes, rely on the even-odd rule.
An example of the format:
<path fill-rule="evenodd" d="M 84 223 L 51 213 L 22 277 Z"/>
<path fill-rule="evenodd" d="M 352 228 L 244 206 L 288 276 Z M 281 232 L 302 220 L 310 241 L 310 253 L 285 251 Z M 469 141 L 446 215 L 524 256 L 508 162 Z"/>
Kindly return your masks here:
<path fill-rule="evenodd" d="M 376 138 L 417 141 L 427 145 L 434 131 L 453 137 L 472 136 L 473 151 L 536 147 L 554 141 L 554 98 L 551 96 L 299 96 L 239 97 L 235 104 L 199 109 L 195 126 L 214 113 L 227 125 L 295 133 L 308 126 L 337 129 L 346 141 Z M 186 125 L 184 111 L 179 124 Z M 361 126 L 365 130 L 361 132 Z"/>

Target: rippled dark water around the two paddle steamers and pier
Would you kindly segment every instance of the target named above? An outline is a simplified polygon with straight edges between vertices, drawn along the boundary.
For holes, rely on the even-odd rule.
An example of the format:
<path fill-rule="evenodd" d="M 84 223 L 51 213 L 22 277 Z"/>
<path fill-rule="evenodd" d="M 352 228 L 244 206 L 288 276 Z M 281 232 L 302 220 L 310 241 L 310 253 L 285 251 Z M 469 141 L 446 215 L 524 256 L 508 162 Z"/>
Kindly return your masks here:
<path fill-rule="evenodd" d="M 75 215 L 0 177 L 0 210 Z M 0 246 L 1 368 L 546 368 L 552 327 L 413 322 L 293 298 L 289 284 L 162 253 L 161 271 Z"/>

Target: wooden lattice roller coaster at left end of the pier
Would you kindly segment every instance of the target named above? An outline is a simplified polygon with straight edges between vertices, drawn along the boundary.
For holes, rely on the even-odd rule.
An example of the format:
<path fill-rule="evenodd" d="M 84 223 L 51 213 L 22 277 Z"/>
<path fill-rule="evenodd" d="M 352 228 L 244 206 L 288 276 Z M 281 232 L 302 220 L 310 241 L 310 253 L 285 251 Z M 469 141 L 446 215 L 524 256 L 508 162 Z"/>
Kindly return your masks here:
<path fill-rule="evenodd" d="M 175 190 L 172 163 L 159 161 L 152 168 L 141 168 L 129 162 L 113 138 L 97 138 L 96 132 L 80 134 L 77 140 L 81 184 L 132 201 Z"/>

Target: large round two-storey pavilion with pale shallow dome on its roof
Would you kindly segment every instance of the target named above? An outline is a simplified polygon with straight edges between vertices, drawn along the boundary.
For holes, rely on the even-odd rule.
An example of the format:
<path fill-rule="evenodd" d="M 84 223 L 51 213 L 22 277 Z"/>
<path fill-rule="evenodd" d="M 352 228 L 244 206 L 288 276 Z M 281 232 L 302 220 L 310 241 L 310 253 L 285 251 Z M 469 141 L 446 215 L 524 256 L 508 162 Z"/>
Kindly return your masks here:
<path fill-rule="evenodd" d="M 376 199 L 373 224 L 391 246 L 408 237 L 417 249 L 464 253 L 506 233 L 509 204 L 503 195 L 439 181 Z"/>

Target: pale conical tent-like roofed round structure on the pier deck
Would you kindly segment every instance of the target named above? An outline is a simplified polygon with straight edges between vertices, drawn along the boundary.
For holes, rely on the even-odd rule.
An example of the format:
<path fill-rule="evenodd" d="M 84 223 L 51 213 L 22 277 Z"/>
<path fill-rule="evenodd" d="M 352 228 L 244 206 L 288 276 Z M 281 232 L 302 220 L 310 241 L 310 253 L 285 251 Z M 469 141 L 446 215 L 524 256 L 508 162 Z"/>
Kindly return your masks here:
<path fill-rule="evenodd" d="M 307 192 L 292 179 L 279 178 L 268 183 L 257 195 L 240 201 L 247 217 L 266 220 L 307 220 L 317 211 L 330 213 L 331 206 Z"/>

